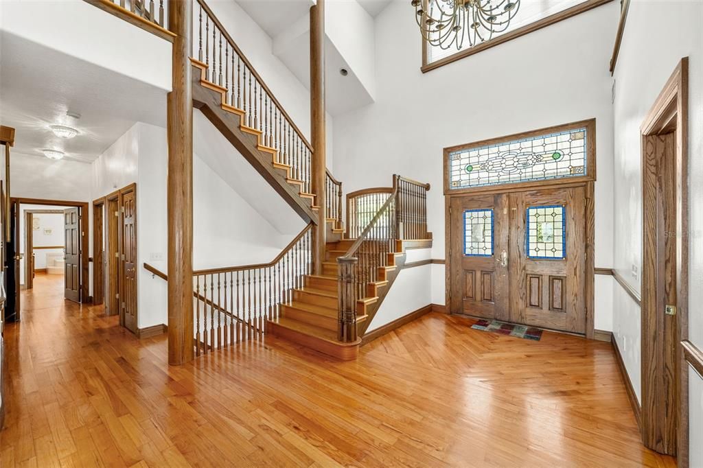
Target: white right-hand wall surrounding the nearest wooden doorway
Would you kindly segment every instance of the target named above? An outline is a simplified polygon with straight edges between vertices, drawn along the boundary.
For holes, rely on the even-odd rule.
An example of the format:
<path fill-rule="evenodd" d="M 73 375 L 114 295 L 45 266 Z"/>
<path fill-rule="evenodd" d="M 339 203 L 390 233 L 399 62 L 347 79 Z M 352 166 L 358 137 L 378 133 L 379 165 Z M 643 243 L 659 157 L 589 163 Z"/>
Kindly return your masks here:
<path fill-rule="evenodd" d="M 633 0 L 614 78 L 614 268 L 640 291 L 642 189 L 640 125 L 682 57 L 689 63 L 689 339 L 703 348 L 703 3 Z M 657 31 L 652 34 L 652 31 Z M 633 267 L 636 274 L 633 274 Z M 640 308 L 614 287 L 614 336 L 640 392 Z M 690 383 L 691 466 L 702 466 L 703 386 Z M 697 452 L 695 450 L 698 450 Z M 697 454 L 697 463 L 694 462 Z"/>

